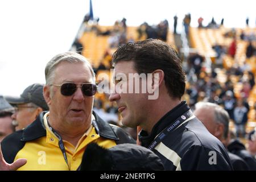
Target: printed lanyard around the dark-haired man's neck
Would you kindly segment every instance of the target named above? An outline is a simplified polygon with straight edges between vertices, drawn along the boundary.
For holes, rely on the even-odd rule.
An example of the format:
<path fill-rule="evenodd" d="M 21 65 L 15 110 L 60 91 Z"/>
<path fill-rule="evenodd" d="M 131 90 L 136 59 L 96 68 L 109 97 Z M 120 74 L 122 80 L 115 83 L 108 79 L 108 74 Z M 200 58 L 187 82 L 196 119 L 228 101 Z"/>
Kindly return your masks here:
<path fill-rule="evenodd" d="M 153 150 L 169 133 L 176 130 L 178 127 L 180 127 L 183 123 L 190 121 L 191 119 L 195 118 L 195 115 L 193 115 L 191 109 L 189 109 L 187 112 L 183 113 L 179 118 L 175 120 L 175 122 L 171 123 L 171 125 L 167 126 L 165 129 L 163 129 L 162 132 L 160 132 L 153 142 L 149 145 L 148 149 Z"/>

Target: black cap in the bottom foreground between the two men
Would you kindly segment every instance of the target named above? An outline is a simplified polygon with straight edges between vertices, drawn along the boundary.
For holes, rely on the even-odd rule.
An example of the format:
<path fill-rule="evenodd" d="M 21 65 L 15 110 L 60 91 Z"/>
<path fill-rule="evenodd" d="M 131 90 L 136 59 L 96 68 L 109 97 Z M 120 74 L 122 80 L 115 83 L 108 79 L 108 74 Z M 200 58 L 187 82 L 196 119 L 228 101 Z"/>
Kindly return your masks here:
<path fill-rule="evenodd" d="M 82 156 L 80 170 L 164 170 L 164 167 L 159 156 L 137 144 L 124 143 L 105 149 L 90 143 Z"/>

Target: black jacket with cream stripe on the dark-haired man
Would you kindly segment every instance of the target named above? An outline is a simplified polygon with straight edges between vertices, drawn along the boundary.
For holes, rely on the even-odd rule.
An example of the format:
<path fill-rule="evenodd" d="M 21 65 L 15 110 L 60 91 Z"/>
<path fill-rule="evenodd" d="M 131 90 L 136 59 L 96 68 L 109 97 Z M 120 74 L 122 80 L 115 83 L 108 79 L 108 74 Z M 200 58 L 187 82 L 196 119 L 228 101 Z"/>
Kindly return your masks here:
<path fill-rule="evenodd" d="M 141 131 L 139 140 L 149 147 L 154 138 L 189 110 L 185 101 L 164 115 L 151 134 Z M 160 136 L 160 135 L 159 135 Z M 168 133 L 154 148 L 166 170 L 230 170 L 232 165 L 223 144 L 197 118 Z"/>

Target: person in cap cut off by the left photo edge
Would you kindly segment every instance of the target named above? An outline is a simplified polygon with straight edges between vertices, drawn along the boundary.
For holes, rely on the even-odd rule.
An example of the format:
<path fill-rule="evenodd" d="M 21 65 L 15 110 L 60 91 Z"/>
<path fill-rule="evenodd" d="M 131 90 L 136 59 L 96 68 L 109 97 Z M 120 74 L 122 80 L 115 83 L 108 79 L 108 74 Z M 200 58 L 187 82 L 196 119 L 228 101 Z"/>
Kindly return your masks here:
<path fill-rule="evenodd" d="M 0 96 L 0 142 L 9 134 L 15 131 L 11 115 L 14 112 L 12 107 L 4 98 Z"/>

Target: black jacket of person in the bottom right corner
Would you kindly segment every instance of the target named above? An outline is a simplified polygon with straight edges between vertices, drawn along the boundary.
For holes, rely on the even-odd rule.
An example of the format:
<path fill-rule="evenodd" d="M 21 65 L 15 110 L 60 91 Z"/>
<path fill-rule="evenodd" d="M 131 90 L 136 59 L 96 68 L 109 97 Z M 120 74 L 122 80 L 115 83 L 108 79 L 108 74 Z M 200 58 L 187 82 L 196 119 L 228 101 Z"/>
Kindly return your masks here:
<path fill-rule="evenodd" d="M 230 144 L 228 145 L 228 150 L 232 154 L 240 156 L 240 158 L 246 162 L 249 170 L 256 170 L 255 158 L 246 150 L 245 146 L 239 140 L 231 140 Z"/>

